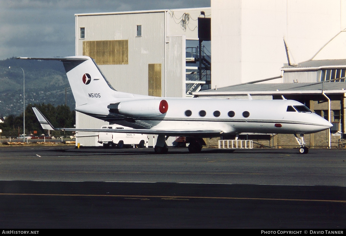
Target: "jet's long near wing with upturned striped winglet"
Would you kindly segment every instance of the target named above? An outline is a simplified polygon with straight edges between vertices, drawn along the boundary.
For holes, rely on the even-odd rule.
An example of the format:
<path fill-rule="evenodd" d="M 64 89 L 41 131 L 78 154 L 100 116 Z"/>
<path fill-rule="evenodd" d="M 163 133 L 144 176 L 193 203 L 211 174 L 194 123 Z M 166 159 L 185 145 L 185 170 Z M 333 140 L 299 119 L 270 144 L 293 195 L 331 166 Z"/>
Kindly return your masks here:
<path fill-rule="evenodd" d="M 46 117 L 36 108 L 33 107 L 34 113 L 43 129 L 65 130 L 65 131 L 86 131 L 86 132 L 111 132 L 111 133 L 128 133 L 128 134 L 164 134 L 167 136 L 197 136 L 201 134 L 220 135 L 224 133 L 219 129 L 76 129 L 76 128 L 54 128 Z"/>

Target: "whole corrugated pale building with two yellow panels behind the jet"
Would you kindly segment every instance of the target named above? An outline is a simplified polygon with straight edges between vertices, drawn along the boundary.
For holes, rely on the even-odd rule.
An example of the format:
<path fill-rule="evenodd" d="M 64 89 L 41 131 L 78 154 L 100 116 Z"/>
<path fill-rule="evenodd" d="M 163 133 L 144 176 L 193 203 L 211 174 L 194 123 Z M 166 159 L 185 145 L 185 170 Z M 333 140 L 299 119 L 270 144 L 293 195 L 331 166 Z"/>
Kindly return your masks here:
<path fill-rule="evenodd" d="M 76 55 L 94 58 L 118 91 L 184 97 L 186 40 L 198 40 L 198 17 L 210 17 L 210 10 L 76 14 Z M 76 112 L 77 128 L 100 128 L 104 124 Z M 76 141 L 83 146 L 97 145 L 95 134 L 80 132 L 78 136 Z M 171 139 L 167 143 L 175 138 Z"/>

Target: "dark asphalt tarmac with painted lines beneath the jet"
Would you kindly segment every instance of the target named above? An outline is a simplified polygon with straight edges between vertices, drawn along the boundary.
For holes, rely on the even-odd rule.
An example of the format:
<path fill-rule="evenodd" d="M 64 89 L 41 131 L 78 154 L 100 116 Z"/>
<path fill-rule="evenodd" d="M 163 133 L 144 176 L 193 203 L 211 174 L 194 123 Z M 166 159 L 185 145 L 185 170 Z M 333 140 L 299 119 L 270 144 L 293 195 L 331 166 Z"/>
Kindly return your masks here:
<path fill-rule="evenodd" d="M 339 149 L 0 147 L 0 228 L 346 227 Z"/>

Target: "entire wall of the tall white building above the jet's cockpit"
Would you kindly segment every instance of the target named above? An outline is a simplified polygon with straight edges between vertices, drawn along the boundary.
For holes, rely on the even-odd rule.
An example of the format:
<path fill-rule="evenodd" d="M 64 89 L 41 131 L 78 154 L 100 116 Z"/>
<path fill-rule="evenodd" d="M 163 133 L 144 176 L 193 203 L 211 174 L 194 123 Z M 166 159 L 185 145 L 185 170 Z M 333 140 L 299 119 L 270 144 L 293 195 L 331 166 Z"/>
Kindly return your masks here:
<path fill-rule="evenodd" d="M 344 29 L 345 5 L 345 0 L 211 0 L 212 88 L 280 75 L 288 63 L 283 37 L 295 62 L 309 60 Z"/>

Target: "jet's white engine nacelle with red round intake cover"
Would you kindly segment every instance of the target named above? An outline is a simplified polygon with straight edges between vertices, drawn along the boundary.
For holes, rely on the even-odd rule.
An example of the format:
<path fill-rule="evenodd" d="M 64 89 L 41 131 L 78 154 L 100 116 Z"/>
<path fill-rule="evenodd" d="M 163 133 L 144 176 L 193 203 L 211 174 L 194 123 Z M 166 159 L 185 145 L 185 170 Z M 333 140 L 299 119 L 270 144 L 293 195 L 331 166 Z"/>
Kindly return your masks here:
<path fill-rule="evenodd" d="M 113 103 L 108 108 L 110 112 L 124 116 L 158 116 L 167 112 L 168 103 L 164 99 L 132 100 Z"/>

